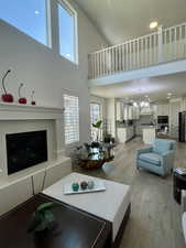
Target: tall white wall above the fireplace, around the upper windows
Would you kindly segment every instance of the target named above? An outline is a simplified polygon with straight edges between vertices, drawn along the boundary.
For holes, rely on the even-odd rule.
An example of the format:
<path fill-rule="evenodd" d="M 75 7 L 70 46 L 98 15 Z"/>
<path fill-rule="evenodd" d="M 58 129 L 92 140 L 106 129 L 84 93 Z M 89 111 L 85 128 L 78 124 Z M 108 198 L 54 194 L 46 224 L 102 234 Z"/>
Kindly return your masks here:
<path fill-rule="evenodd" d="M 106 41 L 88 18 L 73 2 L 78 14 L 78 56 L 75 65 L 58 55 L 56 0 L 51 0 L 53 48 L 48 48 L 15 28 L 0 20 L 0 75 L 8 68 L 8 89 L 18 100 L 18 87 L 25 84 L 23 94 L 29 98 L 35 90 L 37 105 L 63 107 L 63 93 L 68 89 L 79 96 L 80 141 L 89 139 L 89 91 L 87 54 L 101 48 Z"/>

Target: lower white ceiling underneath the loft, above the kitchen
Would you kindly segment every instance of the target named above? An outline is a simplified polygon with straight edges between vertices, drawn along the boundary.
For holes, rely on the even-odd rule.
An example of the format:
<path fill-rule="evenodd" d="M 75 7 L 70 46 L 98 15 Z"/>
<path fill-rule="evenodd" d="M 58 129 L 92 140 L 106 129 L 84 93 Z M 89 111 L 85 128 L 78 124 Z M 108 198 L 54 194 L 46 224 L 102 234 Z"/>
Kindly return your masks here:
<path fill-rule="evenodd" d="M 91 89 L 91 94 L 100 97 L 123 98 L 125 100 L 143 99 L 145 95 L 152 101 L 165 100 L 168 93 L 172 93 L 173 98 L 186 96 L 186 73 L 130 80 Z"/>

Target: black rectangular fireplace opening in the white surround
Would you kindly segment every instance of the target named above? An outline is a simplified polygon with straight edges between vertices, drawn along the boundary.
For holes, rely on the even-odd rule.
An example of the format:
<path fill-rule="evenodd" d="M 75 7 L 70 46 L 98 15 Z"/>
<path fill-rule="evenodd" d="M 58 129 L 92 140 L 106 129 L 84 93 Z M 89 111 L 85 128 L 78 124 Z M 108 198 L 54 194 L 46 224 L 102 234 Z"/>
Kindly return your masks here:
<path fill-rule="evenodd" d="M 46 130 L 6 134 L 8 174 L 47 161 Z"/>

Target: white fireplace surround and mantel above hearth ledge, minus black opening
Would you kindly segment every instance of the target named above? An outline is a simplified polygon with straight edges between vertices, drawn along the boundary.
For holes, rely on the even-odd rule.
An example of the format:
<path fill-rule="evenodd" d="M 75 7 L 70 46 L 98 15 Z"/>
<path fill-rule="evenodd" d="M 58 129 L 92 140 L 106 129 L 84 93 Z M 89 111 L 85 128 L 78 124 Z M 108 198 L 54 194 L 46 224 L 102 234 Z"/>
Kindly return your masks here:
<path fill-rule="evenodd" d="M 8 170 L 10 161 L 8 159 L 7 139 L 12 137 L 12 134 L 19 136 L 21 132 L 37 132 L 41 130 L 47 132 L 47 155 L 45 154 L 47 158 L 39 161 L 39 164 L 55 163 L 65 155 L 63 109 L 0 104 L 0 179 L 12 173 L 11 170 Z M 33 165 L 36 165 L 36 163 Z M 36 166 L 35 170 L 37 170 Z"/>

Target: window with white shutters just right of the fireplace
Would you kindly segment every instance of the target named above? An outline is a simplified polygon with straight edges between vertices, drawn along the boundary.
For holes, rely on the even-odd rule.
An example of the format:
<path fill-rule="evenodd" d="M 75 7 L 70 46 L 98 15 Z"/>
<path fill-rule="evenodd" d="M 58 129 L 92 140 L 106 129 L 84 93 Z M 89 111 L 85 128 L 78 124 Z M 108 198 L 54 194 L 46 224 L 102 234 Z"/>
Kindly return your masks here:
<path fill-rule="evenodd" d="M 65 143 L 79 141 L 79 98 L 64 95 L 65 107 Z"/>

